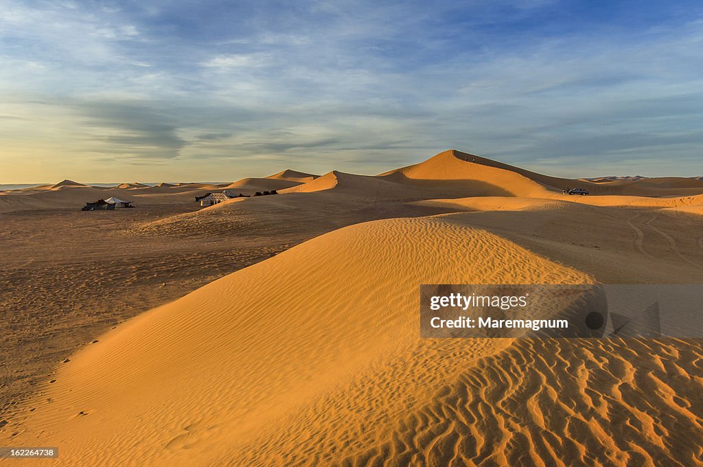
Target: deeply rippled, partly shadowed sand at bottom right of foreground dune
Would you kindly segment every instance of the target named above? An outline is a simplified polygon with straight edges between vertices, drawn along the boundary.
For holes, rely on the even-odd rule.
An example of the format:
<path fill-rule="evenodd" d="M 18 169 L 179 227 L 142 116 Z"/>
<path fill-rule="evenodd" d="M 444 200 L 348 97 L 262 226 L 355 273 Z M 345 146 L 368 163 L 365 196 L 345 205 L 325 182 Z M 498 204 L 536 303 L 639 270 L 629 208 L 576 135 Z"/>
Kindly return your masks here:
<path fill-rule="evenodd" d="M 471 344 L 431 347 L 419 352 L 430 359 L 415 378 L 430 369 L 446 376 L 442 356 L 458 368 L 423 397 L 391 391 L 379 410 L 363 397 L 330 395 L 288 421 L 295 430 L 255 440 L 230 465 L 702 463 L 699 342 L 523 340 L 474 364 L 466 361 Z M 399 376 L 407 375 L 391 366 L 369 379 L 396 390 L 388 386 Z M 393 399 L 401 407 L 388 413 Z"/>

